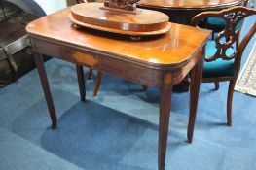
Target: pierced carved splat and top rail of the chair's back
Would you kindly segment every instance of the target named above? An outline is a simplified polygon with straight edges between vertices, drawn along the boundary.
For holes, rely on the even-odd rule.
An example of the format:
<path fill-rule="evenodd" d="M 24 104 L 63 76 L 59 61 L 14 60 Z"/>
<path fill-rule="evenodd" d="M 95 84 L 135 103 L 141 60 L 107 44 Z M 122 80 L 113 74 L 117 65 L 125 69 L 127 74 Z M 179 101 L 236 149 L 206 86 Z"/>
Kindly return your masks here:
<path fill-rule="evenodd" d="M 213 61 L 218 58 L 224 60 L 235 58 L 238 55 L 238 46 L 236 46 L 236 43 L 238 43 L 237 40 L 241 28 L 239 23 L 243 21 L 244 17 L 252 15 L 256 15 L 255 10 L 245 7 L 233 7 L 220 12 L 204 12 L 194 17 L 191 21 L 192 26 L 197 26 L 203 18 L 207 17 L 219 17 L 226 21 L 226 27 L 215 38 L 217 51 L 214 55 L 205 57 L 205 61 Z M 247 41 L 249 41 L 249 39 Z M 227 51 L 231 49 L 234 52 L 231 55 L 227 55 Z"/>

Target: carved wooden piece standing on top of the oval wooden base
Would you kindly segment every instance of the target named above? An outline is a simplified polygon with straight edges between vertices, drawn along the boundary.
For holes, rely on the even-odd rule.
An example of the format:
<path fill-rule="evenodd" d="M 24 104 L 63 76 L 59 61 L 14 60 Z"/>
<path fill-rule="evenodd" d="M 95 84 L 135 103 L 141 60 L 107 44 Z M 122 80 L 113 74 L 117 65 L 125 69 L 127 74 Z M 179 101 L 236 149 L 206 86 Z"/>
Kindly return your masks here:
<path fill-rule="evenodd" d="M 101 9 L 136 14 L 136 3 L 138 1 L 139 0 L 105 0 L 104 7 L 101 7 Z"/>

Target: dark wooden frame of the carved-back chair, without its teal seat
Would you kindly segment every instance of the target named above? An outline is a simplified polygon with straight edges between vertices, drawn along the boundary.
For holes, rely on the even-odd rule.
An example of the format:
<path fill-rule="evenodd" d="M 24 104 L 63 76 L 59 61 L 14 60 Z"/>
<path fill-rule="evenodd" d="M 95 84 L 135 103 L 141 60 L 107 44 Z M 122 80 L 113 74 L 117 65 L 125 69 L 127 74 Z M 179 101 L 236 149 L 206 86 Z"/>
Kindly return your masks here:
<path fill-rule="evenodd" d="M 238 78 L 238 72 L 240 69 L 240 61 L 242 53 L 252 38 L 252 36 L 256 32 L 256 23 L 253 24 L 249 32 L 245 35 L 243 40 L 239 42 L 239 32 L 240 29 L 236 30 L 236 26 L 238 22 L 244 19 L 245 17 L 249 17 L 252 15 L 256 15 L 256 11 L 253 9 L 247 9 L 245 7 L 233 7 L 227 10 L 223 10 L 220 12 L 203 12 L 196 17 L 193 17 L 191 21 L 192 26 L 197 26 L 202 19 L 207 17 L 219 17 L 226 21 L 226 27 L 223 31 L 219 33 L 219 35 L 215 39 L 217 51 L 213 56 L 205 57 L 205 62 L 214 61 L 218 58 L 222 58 L 223 60 L 231 60 L 235 58 L 234 68 L 236 74 L 234 76 L 226 76 L 226 77 L 218 77 L 218 78 L 202 78 L 202 82 L 204 83 L 215 83 L 215 88 L 218 88 L 218 83 L 222 81 L 230 81 L 229 91 L 228 91 L 228 99 L 227 99 L 227 121 L 228 125 L 232 125 L 232 99 L 234 93 L 234 87 Z M 225 42 L 221 40 L 225 39 Z M 232 48 L 234 53 L 232 55 L 227 55 L 226 51 Z"/>

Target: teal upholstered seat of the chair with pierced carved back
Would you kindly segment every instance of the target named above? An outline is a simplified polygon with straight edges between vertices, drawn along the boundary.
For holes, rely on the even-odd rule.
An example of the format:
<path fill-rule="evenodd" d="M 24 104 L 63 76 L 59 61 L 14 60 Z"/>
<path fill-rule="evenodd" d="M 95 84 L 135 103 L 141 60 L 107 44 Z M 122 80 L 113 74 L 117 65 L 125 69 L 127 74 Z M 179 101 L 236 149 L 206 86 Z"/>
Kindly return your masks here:
<path fill-rule="evenodd" d="M 212 56 L 216 52 L 215 42 L 208 41 L 206 45 L 205 56 Z M 227 51 L 227 54 L 232 54 L 233 51 Z M 235 76 L 235 66 L 234 59 L 223 60 L 222 58 L 216 59 L 215 61 L 204 62 L 203 66 L 203 78 L 217 78 L 217 77 L 227 77 Z"/>

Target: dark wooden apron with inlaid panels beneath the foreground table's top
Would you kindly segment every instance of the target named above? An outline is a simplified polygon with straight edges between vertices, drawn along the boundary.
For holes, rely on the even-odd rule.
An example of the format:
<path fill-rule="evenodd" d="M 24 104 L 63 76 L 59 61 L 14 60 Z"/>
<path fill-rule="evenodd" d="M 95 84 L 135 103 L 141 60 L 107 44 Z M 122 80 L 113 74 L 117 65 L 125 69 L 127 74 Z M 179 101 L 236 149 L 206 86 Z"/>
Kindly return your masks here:
<path fill-rule="evenodd" d="M 114 75 L 134 83 L 159 88 L 164 85 L 176 85 L 180 83 L 202 56 L 201 49 L 186 65 L 180 68 L 161 70 L 136 64 L 136 62 L 131 60 L 128 62 L 117 59 L 118 57 L 110 57 L 110 54 L 75 48 L 64 43 L 56 44 L 31 37 L 30 40 L 35 52 L 87 66 L 102 73 Z M 168 77 L 167 75 L 170 75 L 171 80 L 165 80 Z M 171 84 L 168 83 L 169 81 Z"/>

